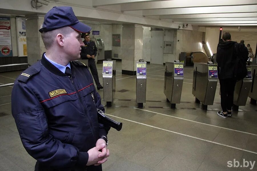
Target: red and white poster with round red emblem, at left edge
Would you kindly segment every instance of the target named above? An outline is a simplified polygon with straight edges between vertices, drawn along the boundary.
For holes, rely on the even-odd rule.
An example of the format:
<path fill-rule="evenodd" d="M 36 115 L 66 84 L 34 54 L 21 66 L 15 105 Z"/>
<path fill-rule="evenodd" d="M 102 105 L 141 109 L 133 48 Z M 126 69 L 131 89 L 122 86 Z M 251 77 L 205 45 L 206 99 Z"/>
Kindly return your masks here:
<path fill-rule="evenodd" d="M 0 17 L 0 57 L 13 56 L 9 17 Z"/>

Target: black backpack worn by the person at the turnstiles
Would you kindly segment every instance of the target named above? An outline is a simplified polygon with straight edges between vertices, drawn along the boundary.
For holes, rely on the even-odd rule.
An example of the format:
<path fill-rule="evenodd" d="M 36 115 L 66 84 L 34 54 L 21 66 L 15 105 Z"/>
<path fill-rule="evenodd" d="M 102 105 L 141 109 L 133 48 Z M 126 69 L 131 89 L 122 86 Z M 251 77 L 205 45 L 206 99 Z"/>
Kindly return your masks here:
<path fill-rule="evenodd" d="M 243 56 L 241 56 L 241 48 L 240 44 L 238 44 L 238 47 L 236 47 L 236 62 L 235 62 L 235 69 L 234 69 L 234 75 L 236 77 L 236 80 L 242 80 L 247 75 L 247 68 L 246 68 L 246 62 L 244 62 Z"/>

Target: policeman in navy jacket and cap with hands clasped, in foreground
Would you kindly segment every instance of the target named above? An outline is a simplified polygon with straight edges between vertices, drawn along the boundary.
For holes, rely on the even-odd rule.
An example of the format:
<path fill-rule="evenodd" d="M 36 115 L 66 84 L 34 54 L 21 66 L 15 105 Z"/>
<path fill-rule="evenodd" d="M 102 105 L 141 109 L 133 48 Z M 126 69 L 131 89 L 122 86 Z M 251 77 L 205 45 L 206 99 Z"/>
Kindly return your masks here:
<path fill-rule="evenodd" d="M 46 52 L 13 86 L 12 115 L 35 171 L 102 171 L 109 157 L 110 127 L 97 117 L 101 97 L 87 66 L 76 61 L 81 32 L 90 30 L 71 7 L 53 7 L 39 30 Z"/>

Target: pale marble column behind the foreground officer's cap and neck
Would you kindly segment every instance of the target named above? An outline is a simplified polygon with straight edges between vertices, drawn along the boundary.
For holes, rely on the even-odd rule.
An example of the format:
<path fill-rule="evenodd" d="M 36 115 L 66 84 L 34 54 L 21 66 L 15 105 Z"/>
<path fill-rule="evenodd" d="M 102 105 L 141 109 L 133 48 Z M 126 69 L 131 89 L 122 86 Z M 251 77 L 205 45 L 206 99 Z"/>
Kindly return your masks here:
<path fill-rule="evenodd" d="M 41 38 L 39 29 L 41 28 L 44 16 L 41 14 L 26 15 L 26 39 L 28 63 L 35 64 L 45 52 L 45 45 Z"/>

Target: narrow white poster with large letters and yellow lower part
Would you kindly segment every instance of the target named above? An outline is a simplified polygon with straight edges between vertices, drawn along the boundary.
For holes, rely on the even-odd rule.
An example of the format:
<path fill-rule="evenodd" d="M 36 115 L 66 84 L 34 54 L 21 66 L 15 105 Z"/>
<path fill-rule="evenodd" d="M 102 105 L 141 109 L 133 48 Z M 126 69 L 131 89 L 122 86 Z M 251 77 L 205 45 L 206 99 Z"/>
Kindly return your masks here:
<path fill-rule="evenodd" d="M 27 56 L 26 19 L 16 18 L 18 56 Z"/>

